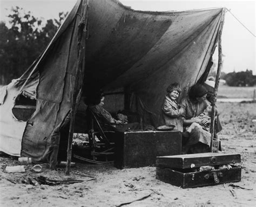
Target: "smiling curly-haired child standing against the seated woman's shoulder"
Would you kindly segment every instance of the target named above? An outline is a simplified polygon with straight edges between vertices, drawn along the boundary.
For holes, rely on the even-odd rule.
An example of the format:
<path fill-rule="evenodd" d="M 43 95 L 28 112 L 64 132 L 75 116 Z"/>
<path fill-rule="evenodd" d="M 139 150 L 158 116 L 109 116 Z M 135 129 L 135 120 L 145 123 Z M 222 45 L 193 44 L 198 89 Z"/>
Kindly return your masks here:
<path fill-rule="evenodd" d="M 165 125 L 175 125 L 174 129 L 183 132 L 183 124 L 181 115 L 184 113 L 184 108 L 181 108 L 176 99 L 181 92 L 181 86 L 178 82 L 174 82 L 166 88 L 167 95 L 165 96 L 163 106 L 161 108 Z"/>

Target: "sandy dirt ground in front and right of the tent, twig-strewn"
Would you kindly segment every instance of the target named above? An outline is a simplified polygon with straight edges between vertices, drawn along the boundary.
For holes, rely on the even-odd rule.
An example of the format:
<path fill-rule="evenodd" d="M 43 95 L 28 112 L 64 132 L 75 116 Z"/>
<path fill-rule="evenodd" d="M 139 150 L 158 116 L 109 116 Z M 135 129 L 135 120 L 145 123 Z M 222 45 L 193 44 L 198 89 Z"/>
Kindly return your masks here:
<path fill-rule="evenodd" d="M 140 198 L 123 206 L 255 206 L 256 122 L 252 120 L 256 119 L 256 103 L 218 103 L 218 107 L 224 128 L 219 135 L 223 152 L 241 154 L 241 182 L 233 183 L 237 187 L 226 183 L 181 189 L 156 180 L 154 167 L 120 170 L 112 164 L 78 163 L 70 176 L 65 176 L 65 168 L 36 173 L 31 171 L 32 165 L 23 174 L 8 174 L 6 165 L 18 165 L 18 161 L 1 155 L 0 206 L 118 206 Z M 33 178 L 40 175 L 84 182 L 39 185 Z M 36 185 L 28 184 L 30 179 Z"/>

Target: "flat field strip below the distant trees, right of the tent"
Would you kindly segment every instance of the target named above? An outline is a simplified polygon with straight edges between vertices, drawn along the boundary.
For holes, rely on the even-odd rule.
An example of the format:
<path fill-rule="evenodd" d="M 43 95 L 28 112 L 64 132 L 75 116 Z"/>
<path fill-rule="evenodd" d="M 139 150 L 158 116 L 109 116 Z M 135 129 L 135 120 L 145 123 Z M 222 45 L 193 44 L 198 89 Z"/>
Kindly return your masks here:
<path fill-rule="evenodd" d="M 253 98 L 253 91 L 256 91 L 254 87 L 230 87 L 220 85 L 218 90 L 218 98 Z M 256 94 L 255 94 L 256 95 Z"/>

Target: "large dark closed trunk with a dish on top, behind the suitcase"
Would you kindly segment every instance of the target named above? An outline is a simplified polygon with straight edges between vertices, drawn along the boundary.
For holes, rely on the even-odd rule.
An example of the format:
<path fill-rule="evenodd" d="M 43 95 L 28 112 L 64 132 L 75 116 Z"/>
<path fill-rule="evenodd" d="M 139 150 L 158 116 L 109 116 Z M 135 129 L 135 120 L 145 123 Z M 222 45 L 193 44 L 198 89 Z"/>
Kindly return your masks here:
<path fill-rule="evenodd" d="M 117 168 L 138 168 L 156 164 L 157 156 L 181 154 L 181 132 L 131 131 L 114 141 Z"/>

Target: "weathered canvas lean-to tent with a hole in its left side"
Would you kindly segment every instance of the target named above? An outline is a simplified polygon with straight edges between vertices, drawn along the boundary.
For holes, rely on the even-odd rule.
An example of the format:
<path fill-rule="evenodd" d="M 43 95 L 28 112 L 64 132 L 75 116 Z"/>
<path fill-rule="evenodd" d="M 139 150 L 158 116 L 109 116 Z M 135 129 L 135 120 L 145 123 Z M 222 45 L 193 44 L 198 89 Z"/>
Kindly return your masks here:
<path fill-rule="evenodd" d="M 83 13 L 87 3 L 89 9 Z M 21 78 L 2 88 L 0 151 L 56 164 L 81 47 L 84 80 L 78 88 L 90 91 L 97 85 L 105 92 L 129 88 L 130 109 L 143 118 L 150 115 L 150 124 L 159 125 L 161 103 L 171 82 L 181 83 L 184 96 L 188 87 L 206 79 L 223 13 L 223 8 L 146 12 L 117 0 L 77 1 L 42 55 Z M 86 44 L 78 45 L 83 20 Z M 20 94 L 36 100 L 36 110 L 26 121 L 13 113 Z M 110 111 L 116 107 L 111 101 Z"/>

